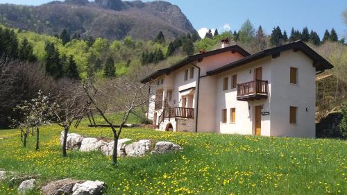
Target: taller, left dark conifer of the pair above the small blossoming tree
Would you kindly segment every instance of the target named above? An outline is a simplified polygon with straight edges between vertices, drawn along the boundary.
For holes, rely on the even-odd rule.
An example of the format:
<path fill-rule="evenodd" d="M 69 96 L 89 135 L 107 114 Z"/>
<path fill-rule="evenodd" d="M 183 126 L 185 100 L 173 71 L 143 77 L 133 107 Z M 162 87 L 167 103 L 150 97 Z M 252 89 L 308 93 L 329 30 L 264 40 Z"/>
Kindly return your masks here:
<path fill-rule="evenodd" d="M 53 43 L 48 42 L 44 47 L 46 51 L 45 69 L 46 73 L 54 78 L 61 78 L 63 75 L 62 64 L 60 62 L 59 53 Z"/>

